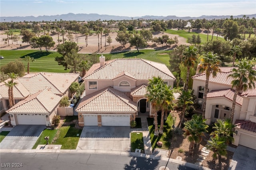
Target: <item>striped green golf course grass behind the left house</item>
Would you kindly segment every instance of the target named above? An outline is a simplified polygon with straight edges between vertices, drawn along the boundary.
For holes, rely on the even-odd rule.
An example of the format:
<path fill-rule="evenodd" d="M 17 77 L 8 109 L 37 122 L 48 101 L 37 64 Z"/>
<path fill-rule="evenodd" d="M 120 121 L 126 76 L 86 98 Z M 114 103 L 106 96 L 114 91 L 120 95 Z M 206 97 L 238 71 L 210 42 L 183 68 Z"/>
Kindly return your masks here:
<path fill-rule="evenodd" d="M 62 65 L 58 65 L 54 58 L 61 56 L 57 52 L 42 51 L 40 50 L 1 50 L 0 55 L 4 56 L 4 59 L 0 60 L 0 65 L 5 65 L 15 59 L 22 59 L 26 55 L 34 57 L 36 61 L 30 63 L 30 72 L 53 72 L 53 73 L 68 73 L 69 70 L 64 70 Z M 25 68 L 27 67 L 26 61 L 23 61 Z"/>

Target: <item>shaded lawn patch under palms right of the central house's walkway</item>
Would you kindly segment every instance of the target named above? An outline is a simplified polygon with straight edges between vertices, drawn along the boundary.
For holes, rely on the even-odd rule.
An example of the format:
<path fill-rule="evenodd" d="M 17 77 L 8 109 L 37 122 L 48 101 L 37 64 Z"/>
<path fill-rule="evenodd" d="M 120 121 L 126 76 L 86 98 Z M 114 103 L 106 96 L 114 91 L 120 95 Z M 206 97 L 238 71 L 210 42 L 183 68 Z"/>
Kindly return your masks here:
<path fill-rule="evenodd" d="M 161 116 L 158 116 L 158 129 L 160 128 L 160 119 Z M 148 129 L 150 132 L 150 139 L 151 139 L 151 145 L 152 145 L 152 150 L 154 148 L 160 148 L 157 146 L 156 142 L 161 141 L 163 142 L 162 149 L 169 149 L 170 147 L 170 139 L 172 138 L 172 125 L 173 125 L 173 118 L 171 114 L 167 117 L 167 120 L 164 123 L 164 133 L 161 135 L 159 134 L 158 136 L 154 136 L 154 129 L 155 126 L 153 125 L 153 118 L 148 118 Z"/>

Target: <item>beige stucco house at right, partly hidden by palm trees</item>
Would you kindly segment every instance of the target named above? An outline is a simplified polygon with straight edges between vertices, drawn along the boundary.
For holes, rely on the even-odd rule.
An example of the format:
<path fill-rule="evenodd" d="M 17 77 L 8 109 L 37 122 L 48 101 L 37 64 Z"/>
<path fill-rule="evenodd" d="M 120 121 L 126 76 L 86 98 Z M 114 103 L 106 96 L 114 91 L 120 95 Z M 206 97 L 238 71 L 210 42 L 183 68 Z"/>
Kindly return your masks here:
<path fill-rule="evenodd" d="M 210 75 L 205 113 L 208 125 L 217 119 L 230 118 L 235 92 L 231 85 L 232 78 L 228 77 L 232 68 L 220 67 L 216 77 Z M 206 74 L 198 73 L 192 79 L 194 95 L 199 107 L 202 107 Z M 256 149 L 256 89 L 241 91 L 237 96 L 233 124 L 237 125 L 234 144 Z"/>

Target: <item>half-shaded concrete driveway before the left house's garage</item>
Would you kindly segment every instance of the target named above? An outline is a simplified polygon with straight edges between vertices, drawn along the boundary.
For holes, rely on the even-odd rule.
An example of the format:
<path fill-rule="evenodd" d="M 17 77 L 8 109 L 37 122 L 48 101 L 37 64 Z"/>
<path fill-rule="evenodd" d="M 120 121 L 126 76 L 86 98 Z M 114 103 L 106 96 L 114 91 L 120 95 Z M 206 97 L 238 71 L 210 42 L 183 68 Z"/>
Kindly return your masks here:
<path fill-rule="evenodd" d="M 1 149 L 32 149 L 45 125 L 17 125 L 0 143 Z"/>

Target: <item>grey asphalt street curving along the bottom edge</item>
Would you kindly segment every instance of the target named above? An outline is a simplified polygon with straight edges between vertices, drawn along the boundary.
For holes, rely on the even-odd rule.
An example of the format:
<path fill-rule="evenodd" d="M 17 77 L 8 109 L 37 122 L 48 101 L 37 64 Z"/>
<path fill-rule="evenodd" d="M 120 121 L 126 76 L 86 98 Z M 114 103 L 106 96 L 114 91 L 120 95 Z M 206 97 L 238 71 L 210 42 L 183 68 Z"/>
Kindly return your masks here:
<path fill-rule="evenodd" d="M 158 170 L 166 161 L 111 154 L 1 153 L 1 170 Z M 22 167 L 6 167 L 22 163 Z M 13 164 L 15 165 L 15 164 Z M 17 164 L 16 164 L 17 165 Z M 168 163 L 170 170 L 194 170 Z"/>

